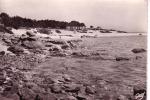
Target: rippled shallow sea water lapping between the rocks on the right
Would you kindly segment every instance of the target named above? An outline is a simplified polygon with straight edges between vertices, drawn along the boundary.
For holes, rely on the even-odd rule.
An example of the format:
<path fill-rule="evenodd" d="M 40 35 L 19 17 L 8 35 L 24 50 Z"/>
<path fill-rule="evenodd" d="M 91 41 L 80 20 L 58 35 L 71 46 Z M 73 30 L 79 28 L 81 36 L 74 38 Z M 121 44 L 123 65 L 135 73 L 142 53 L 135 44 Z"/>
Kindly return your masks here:
<path fill-rule="evenodd" d="M 146 52 L 134 54 L 134 48 L 147 48 L 145 36 L 124 36 L 124 37 L 102 37 L 85 38 L 81 42 L 82 47 L 88 50 L 99 51 L 105 54 L 104 57 L 129 57 L 128 61 L 85 59 L 73 57 L 52 57 L 39 66 L 39 71 L 49 70 L 56 73 L 66 73 L 80 82 L 92 81 L 93 77 L 108 80 L 110 86 L 113 84 L 133 86 L 140 84 L 146 86 Z M 140 56 L 140 59 L 136 59 Z M 68 70 L 66 70 L 66 68 Z M 90 83 L 90 84 L 95 84 Z M 124 89 L 128 90 L 128 89 Z M 119 90 L 118 90 L 119 91 Z"/>

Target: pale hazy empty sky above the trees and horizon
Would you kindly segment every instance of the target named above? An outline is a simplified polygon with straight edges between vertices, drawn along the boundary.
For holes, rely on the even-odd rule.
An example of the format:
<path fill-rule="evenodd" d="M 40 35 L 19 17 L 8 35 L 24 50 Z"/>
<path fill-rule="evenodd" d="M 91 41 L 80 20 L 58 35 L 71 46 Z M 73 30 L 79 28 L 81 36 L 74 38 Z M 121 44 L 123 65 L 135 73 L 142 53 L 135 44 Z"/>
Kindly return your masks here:
<path fill-rule="evenodd" d="M 147 32 L 146 0 L 0 0 L 0 11 L 10 16 L 76 20 L 87 27 Z"/>

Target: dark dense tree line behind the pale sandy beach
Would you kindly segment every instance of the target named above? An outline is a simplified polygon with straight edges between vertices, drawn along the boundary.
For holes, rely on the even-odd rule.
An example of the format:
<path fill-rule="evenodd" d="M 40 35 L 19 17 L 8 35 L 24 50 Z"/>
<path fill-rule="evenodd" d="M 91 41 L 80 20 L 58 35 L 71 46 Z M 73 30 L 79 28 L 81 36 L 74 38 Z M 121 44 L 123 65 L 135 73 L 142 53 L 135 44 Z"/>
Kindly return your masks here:
<path fill-rule="evenodd" d="M 28 27 L 28 28 L 60 28 L 66 29 L 67 26 L 77 26 L 83 27 L 84 23 L 80 23 L 78 21 L 56 21 L 56 20 L 35 20 L 29 18 L 22 18 L 20 16 L 10 17 L 7 13 L 0 14 L 1 23 L 6 27 L 20 28 L 20 27 Z"/>

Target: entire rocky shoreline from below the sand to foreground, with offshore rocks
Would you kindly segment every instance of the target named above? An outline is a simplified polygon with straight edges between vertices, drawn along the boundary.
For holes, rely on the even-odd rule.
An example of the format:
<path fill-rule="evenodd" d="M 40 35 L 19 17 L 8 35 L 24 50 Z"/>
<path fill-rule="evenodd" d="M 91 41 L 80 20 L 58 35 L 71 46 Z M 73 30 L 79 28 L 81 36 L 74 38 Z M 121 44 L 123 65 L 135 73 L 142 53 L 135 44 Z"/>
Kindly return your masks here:
<path fill-rule="evenodd" d="M 130 63 L 142 59 L 141 56 L 112 56 L 106 54 L 105 50 L 90 50 L 81 46 L 82 39 L 37 37 L 35 33 L 28 31 L 21 36 L 1 33 L 0 41 L 7 47 L 7 50 L 2 48 L 0 51 L 0 100 L 145 100 L 146 98 L 145 83 L 139 85 L 125 85 L 119 81 L 113 83 L 111 79 L 88 74 L 89 70 L 86 68 L 80 70 L 70 67 L 74 61 L 85 65 L 85 60 L 101 61 L 102 64 L 103 61 Z M 130 52 L 138 54 L 146 50 L 134 48 Z M 65 65 L 67 59 L 73 59 L 72 63 Z M 44 69 L 46 66 L 52 67 Z"/>

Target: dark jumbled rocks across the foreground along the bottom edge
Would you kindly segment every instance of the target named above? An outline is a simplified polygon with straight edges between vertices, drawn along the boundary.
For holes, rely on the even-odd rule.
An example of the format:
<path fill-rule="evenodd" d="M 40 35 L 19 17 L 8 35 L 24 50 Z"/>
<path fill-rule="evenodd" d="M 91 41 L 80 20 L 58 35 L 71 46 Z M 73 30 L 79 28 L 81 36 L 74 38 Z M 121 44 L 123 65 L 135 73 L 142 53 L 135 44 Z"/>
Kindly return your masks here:
<path fill-rule="evenodd" d="M 100 86 L 97 87 L 77 83 L 68 74 L 55 73 L 55 77 L 32 76 L 29 79 L 18 69 L 5 67 L 0 70 L 0 98 L 6 98 L 6 100 L 138 100 L 137 98 L 145 100 L 146 98 L 146 90 L 138 86 L 133 87 L 131 96 L 117 95 L 109 90 L 111 87 L 106 81 L 103 82 L 104 80 L 101 80 Z"/>

